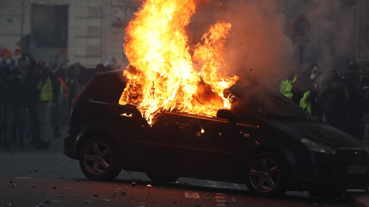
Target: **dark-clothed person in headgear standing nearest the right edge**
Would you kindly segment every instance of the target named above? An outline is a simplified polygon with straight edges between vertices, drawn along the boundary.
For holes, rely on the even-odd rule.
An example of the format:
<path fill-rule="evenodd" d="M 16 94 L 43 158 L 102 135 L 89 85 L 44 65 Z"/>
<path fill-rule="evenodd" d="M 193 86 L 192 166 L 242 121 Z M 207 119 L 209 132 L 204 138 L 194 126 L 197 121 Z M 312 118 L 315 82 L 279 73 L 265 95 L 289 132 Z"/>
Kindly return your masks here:
<path fill-rule="evenodd" d="M 364 92 L 359 76 L 359 64 L 351 62 L 347 66 L 348 73 L 343 78 L 349 92 L 349 101 L 346 105 L 346 132 L 362 141 L 360 128 L 363 119 Z"/>

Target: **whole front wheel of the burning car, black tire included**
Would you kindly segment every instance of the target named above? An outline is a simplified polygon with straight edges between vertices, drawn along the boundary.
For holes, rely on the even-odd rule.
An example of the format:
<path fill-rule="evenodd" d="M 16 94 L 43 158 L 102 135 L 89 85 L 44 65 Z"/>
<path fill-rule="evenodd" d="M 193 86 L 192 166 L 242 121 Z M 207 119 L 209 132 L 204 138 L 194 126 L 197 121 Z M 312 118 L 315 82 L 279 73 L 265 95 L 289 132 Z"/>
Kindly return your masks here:
<path fill-rule="evenodd" d="M 244 175 L 249 191 L 259 197 L 282 196 L 289 186 L 286 165 L 270 152 L 252 156 L 246 163 Z"/>

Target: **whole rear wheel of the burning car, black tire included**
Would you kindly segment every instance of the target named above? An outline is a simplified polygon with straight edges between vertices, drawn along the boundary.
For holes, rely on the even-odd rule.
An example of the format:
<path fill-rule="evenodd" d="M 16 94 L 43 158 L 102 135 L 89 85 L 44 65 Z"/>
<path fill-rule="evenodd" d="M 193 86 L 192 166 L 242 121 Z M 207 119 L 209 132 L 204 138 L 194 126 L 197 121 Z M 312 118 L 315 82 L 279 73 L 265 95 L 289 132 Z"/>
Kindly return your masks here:
<path fill-rule="evenodd" d="M 92 137 L 83 144 L 79 166 L 83 174 L 91 180 L 113 180 L 122 170 L 115 144 L 102 136 Z"/>

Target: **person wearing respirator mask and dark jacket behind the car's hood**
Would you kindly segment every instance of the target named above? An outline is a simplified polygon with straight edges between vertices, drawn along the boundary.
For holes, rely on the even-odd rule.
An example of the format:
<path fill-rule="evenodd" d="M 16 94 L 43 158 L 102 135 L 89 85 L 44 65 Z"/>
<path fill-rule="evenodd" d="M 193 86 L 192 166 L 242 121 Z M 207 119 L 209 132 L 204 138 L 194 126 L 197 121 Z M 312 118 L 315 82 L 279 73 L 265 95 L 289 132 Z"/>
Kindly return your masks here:
<path fill-rule="evenodd" d="M 315 117 L 316 107 L 315 98 L 320 93 L 315 81 L 318 80 L 321 69 L 317 64 L 313 64 L 302 71 L 291 89 L 292 101 L 307 110 Z M 307 103 L 307 104 L 304 104 Z"/>

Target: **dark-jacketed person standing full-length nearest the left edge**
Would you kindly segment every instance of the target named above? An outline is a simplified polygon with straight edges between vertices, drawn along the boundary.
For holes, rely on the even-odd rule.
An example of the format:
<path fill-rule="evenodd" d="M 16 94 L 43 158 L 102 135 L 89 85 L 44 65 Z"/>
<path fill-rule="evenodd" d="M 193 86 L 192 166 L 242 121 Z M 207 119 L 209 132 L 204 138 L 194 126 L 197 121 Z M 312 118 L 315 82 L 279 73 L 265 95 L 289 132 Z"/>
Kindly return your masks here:
<path fill-rule="evenodd" d="M 18 68 L 12 70 L 8 90 L 8 126 L 11 128 L 11 143 L 24 147 L 24 103 L 25 88 Z M 17 142 L 18 137 L 18 142 Z"/>

